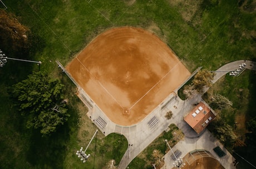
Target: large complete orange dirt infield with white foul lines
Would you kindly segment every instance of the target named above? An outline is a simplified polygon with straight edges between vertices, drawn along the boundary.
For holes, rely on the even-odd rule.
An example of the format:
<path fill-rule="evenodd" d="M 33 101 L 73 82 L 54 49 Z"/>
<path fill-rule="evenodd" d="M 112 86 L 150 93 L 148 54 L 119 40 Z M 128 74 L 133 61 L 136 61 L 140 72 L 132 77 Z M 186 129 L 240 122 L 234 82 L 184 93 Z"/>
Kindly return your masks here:
<path fill-rule="evenodd" d="M 144 119 L 190 75 L 156 35 L 134 27 L 100 34 L 66 69 L 112 122 L 124 126 Z"/>

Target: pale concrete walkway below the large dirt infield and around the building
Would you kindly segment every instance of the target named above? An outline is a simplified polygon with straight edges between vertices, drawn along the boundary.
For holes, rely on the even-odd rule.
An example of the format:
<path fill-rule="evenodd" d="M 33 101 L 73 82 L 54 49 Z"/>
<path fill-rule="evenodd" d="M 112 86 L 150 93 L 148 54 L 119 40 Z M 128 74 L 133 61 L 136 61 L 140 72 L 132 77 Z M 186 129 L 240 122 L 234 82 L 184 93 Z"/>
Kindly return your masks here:
<path fill-rule="evenodd" d="M 256 63 L 250 62 L 248 60 L 238 60 L 232 63 L 228 63 L 218 69 L 213 83 L 215 83 L 215 81 L 227 73 L 224 72 L 224 70 L 237 69 L 239 64 L 244 62 L 247 64 L 247 69 L 256 70 Z M 90 100 L 90 98 L 86 99 Z M 191 109 L 193 109 L 194 104 L 199 103 L 200 100 L 201 95 L 197 95 L 195 98 L 185 101 L 181 100 L 178 96 L 170 95 L 169 98 L 166 98 L 163 103 L 157 106 L 150 115 L 146 116 L 144 120 L 139 122 L 139 124 L 133 126 L 120 126 L 114 124 L 108 119 L 107 116 L 102 114 L 102 111 L 96 105 L 93 105 L 93 108 L 88 111 L 87 115 L 91 118 L 92 121 L 97 120 L 97 118 L 100 116 L 106 122 L 106 126 L 98 126 L 105 135 L 116 132 L 126 137 L 130 146 L 127 148 L 127 151 L 119 163 L 119 169 L 125 169 L 129 163 L 137 155 L 139 155 L 139 153 L 143 151 L 152 141 L 154 141 L 156 137 L 158 137 L 170 124 L 176 124 L 185 134 L 185 139 L 178 142 L 178 144 L 174 146 L 174 148 L 177 148 L 183 152 L 183 156 L 181 157 L 184 157 L 186 153 L 196 148 L 203 148 L 210 152 L 216 145 L 219 145 L 222 148 L 223 146 L 210 134 L 208 130 L 206 130 L 203 135 L 198 137 L 196 132 L 191 129 L 191 127 L 183 120 L 183 117 L 188 114 Z M 163 108 L 163 105 L 165 104 L 166 106 Z M 174 118 L 166 120 L 164 116 L 166 112 L 170 110 L 173 111 Z M 216 157 L 214 153 L 212 153 L 212 155 L 214 155 L 226 169 L 233 169 L 234 167 L 230 166 L 230 164 L 232 164 L 232 160 L 234 159 L 227 150 L 224 149 L 224 151 L 227 153 L 225 158 L 220 159 Z M 173 162 L 169 160 L 169 157 L 170 152 L 165 155 L 165 166 L 163 167 L 164 169 L 173 167 Z"/>

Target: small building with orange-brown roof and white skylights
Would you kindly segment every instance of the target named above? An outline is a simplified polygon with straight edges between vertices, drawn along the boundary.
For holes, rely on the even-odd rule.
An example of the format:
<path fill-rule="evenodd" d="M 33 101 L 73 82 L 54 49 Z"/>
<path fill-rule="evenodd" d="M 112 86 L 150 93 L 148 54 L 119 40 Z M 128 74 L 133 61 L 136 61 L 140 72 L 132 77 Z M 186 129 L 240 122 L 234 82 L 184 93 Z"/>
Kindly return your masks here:
<path fill-rule="evenodd" d="M 206 103 L 201 101 L 184 117 L 184 120 L 199 135 L 215 119 L 215 116 L 215 112 Z"/>

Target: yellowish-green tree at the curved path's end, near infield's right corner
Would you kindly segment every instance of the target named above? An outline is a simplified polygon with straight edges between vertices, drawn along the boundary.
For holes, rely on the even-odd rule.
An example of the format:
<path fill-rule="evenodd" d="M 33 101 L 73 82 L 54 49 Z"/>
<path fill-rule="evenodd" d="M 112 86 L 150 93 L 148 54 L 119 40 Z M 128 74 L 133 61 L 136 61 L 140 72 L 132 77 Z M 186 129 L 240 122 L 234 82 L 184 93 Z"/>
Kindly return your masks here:
<path fill-rule="evenodd" d="M 211 80 L 213 80 L 214 75 L 214 73 L 211 73 L 206 69 L 199 70 L 192 80 L 193 89 L 198 91 L 198 93 L 203 94 L 204 88 L 209 88 L 212 85 Z"/>

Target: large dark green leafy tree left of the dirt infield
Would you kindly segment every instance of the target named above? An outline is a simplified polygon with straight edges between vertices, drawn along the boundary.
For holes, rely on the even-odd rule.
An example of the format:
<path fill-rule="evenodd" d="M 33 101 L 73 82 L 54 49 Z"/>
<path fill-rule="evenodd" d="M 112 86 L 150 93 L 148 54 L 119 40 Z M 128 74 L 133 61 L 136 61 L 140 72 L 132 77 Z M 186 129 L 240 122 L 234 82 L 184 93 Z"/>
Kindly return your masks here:
<path fill-rule="evenodd" d="M 59 79 L 52 79 L 46 73 L 37 72 L 11 88 L 17 100 L 18 110 L 27 117 L 27 127 L 40 129 L 43 136 L 56 131 L 70 116 L 63 87 Z"/>

